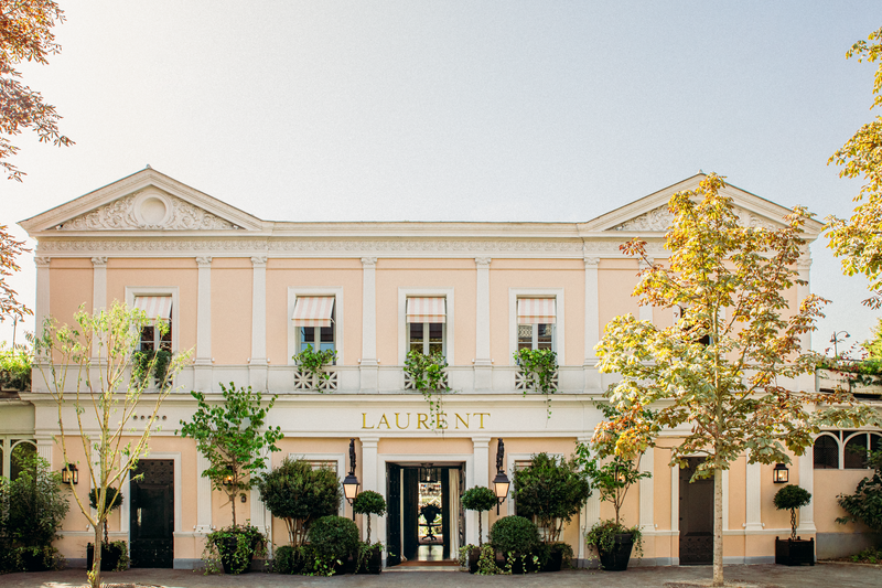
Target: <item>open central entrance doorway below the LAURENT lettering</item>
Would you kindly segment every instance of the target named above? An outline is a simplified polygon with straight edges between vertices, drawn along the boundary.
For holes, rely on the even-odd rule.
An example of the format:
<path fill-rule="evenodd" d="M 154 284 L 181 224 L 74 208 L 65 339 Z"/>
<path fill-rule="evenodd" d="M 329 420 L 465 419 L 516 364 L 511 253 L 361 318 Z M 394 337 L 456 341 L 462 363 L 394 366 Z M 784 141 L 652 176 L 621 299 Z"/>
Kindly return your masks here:
<path fill-rule="evenodd" d="M 462 544 L 462 464 L 387 464 L 387 566 L 449 562 Z"/>

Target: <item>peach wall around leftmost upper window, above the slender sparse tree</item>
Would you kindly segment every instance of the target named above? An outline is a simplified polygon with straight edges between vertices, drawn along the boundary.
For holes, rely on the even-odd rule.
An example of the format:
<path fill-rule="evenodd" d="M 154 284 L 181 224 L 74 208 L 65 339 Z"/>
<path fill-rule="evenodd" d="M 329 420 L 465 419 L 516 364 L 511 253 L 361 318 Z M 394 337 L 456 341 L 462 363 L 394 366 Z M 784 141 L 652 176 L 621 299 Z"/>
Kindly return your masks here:
<path fill-rule="evenodd" d="M 178 348 L 196 346 L 196 308 L 198 282 L 195 259 L 120 259 L 107 260 L 107 303 L 126 301 L 126 287 L 178 287 Z"/>

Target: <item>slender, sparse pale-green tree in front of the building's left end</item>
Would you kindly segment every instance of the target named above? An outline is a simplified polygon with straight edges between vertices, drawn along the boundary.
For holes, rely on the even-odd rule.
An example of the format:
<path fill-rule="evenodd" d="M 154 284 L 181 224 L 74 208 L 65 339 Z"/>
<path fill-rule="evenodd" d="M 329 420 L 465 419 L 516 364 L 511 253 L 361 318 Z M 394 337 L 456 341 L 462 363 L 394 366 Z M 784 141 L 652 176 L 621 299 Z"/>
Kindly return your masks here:
<path fill-rule="evenodd" d="M 109 309 L 93 314 L 80 306 L 74 314 L 73 327 L 60 327 L 55 319 L 49 318 L 42 335 L 34 340 L 35 355 L 40 359 L 35 365 L 58 406 L 56 441 L 65 466 L 73 463 L 72 443 L 79 446 L 84 455 L 94 456 L 86 461 L 85 475 L 98 492 L 97 506 L 90 509 L 76 492 L 73 496 L 95 530 L 96 546 L 101 544 L 101 528 L 116 502 L 119 485 L 138 467 L 138 460 L 149 452 L 148 442 L 159 407 L 172 391 L 174 376 L 191 356 L 191 351 L 176 353 L 155 388 L 132 377 L 132 353 L 140 348 L 141 330 L 151 323 L 142 310 L 129 309 L 117 301 Z M 163 321 L 155 321 L 155 327 L 160 331 L 169 328 Z M 147 392 L 151 400 L 144 409 L 147 403 L 142 403 L 141 397 Z M 147 419 L 139 418 L 136 425 L 137 413 L 141 418 L 146 415 Z M 76 431 L 74 436 L 71 436 L 72 429 Z M 77 441 L 73 440 L 75 436 L 78 436 Z M 96 548 L 88 571 L 94 588 L 100 586 L 100 575 L 101 550 Z"/>

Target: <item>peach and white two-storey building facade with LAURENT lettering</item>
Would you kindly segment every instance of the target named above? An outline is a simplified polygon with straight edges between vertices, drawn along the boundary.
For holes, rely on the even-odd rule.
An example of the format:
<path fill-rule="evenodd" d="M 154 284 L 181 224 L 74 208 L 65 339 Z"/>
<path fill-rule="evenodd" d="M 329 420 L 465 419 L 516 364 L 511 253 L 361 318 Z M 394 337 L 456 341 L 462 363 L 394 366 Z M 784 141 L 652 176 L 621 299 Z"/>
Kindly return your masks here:
<path fill-rule="evenodd" d="M 587 223 L 291 223 L 256 218 L 148 168 L 23 221 L 37 242 L 37 324 L 50 316 L 69 322 L 80 304 L 101 309 L 120 300 L 169 322 L 164 339 L 144 333 L 144 349 L 193 350 L 192 365 L 178 376 L 179 391 L 162 405 L 162 428 L 143 461 L 144 479 L 162 499 L 142 498 L 132 506 L 132 495 L 149 492 L 127 482 L 111 537 L 137 542 L 149 518 L 158 525 L 149 531 L 168 542 L 165 564 L 192 567 L 204 534 L 232 522 L 225 494 L 200 477 L 206 460 L 175 428 L 195 409 L 190 391 L 216 398 L 218 383 L 234 382 L 278 395 L 269 424 L 280 426 L 284 438 L 271 456 L 273 464 L 301 457 L 330 464 L 342 478 L 355 439 L 362 489 L 389 502 L 389 514 L 374 521 L 374 536 L 409 559 L 432 547 L 455 557 L 458 546 L 477 543 L 477 515 L 462 511 L 459 495 L 490 485 L 499 438 L 509 475 L 534 453 L 569 456 L 577 441 L 590 439 L 602 418 L 592 403 L 615 381 L 596 370 L 594 345 L 603 325 L 628 312 L 659 325 L 676 320 L 670 309 L 638 306 L 631 296 L 638 261 L 619 247 L 639 235 L 657 259 L 667 257 L 662 246 L 670 221 L 667 201 L 702 178 Z M 725 193 L 750 225 L 782 226 L 788 212 L 734 186 Z M 813 222 L 806 238 L 814 240 L 819 232 Z M 799 263 L 806 280 L 810 261 L 806 248 Z M 807 286 L 789 291 L 792 307 L 808 292 Z M 809 343 L 806 335 L 804 344 Z M 292 356 L 306 344 L 336 351 L 326 381 L 294 364 Z M 523 348 L 557 353 L 550 416 L 545 397 L 524 389 L 513 359 Z M 405 375 L 411 349 L 440 351 L 450 365 L 454 393 L 443 398 L 445 417 L 434 426 L 428 404 Z M 806 378 L 797 385 L 814 389 L 816 383 Z M 61 469 L 53 441 L 60 432 L 57 408 L 36 374 L 33 391 L 10 400 L 0 418 L 3 471 L 12 446 L 22 442 Z M 878 437 L 830 431 L 820 462 L 809 451 L 789 466 L 790 482 L 814 494 L 799 513 L 798 533 L 817 537 L 819 556 L 865 538 L 865 530 L 833 522 L 841 515 L 835 496 L 853 491 L 867 474 L 862 462 L 850 468 L 856 462 L 847 446 L 863 439 L 868 447 Z M 625 522 L 643 530 L 645 565 L 700 562 L 710 553 L 712 482 L 689 484 L 689 470 L 671 469 L 669 448 L 677 442 L 677 431 L 669 431 L 647 451 L 641 468 L 653 475 L 630 492 L 624 507 Z M 779 488 L 772 469 L 741 458 L 724 474 L 727 563 L 771 562 L 774 537 L 789 534 L 788 513 L 772 503 Z M 85 498 L 88 483 L 80 480 L 76 491 Z M 427 530 L 417 509 L 432 500 L 443 514 Z M 273 523 L 256 490 L 236 507 L 276 544 L 287 543 L 284 525 Z M 351 515 L 349 509 L 344 502 L 341 514 Z M 499 516 L 515 509 L 509 494 Z M 58 543 L 74 562 L 85 556 L 92 537 L 75 511 Z M 611 515 L 595 493 L 566 527 L 562 538 L 579 559 L 585 559 L 585 530 Z M 483 516 L 486 535 L 497 515 Z"/>

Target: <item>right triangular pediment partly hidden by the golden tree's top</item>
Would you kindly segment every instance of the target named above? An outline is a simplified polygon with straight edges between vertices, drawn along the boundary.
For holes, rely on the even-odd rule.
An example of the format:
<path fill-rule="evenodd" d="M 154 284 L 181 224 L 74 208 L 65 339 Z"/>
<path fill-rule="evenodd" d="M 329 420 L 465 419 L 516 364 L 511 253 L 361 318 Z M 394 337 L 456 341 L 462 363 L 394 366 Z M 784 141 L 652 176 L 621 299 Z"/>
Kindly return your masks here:
<path fill-rule="evenodd" d="M 644 196 L 612 212 L 603 214 L 584 225 L 587 232 L 650 234 L 664 233 L 670 226 L 674 215 L 668 211 L 668 201 L 677 192 L 695 190 L 706 178 L 699 173 L 674 185 Z M 730 196 L 735 204 L 735 213 L 742 226 L 781 228 L 784 216 L 792 212 L 779 204 L 752 194 L 738 186 L 727 184 L 722 193 Z M 806 233 L 817 236 L 821 223 L 809 221 Z"/>

